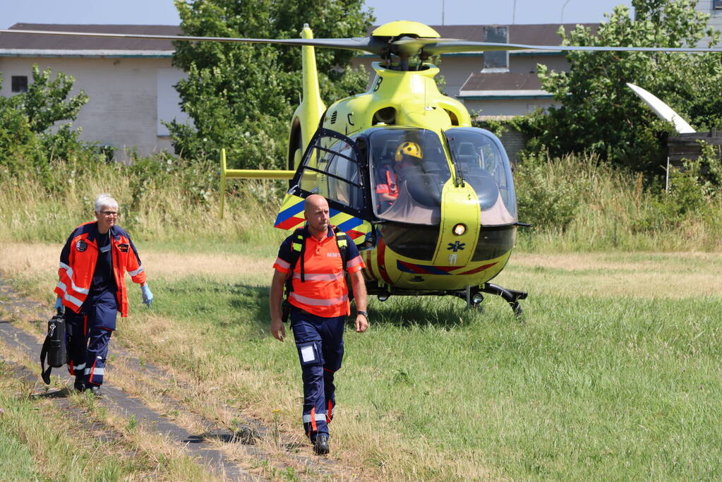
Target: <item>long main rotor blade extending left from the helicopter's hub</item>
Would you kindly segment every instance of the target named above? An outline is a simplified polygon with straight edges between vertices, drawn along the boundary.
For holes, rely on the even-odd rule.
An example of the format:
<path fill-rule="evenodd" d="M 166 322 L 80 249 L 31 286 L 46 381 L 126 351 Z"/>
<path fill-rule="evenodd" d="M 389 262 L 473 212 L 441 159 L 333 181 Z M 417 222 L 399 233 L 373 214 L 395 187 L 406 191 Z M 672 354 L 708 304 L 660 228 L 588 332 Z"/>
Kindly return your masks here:
<path fill-rule="evenodd" d="M 274 43 L 280 45 L 307 45 L 310 47 L 341 48 L 381 54 L 388 43 L 371 37 L 359 38 L 236 38 L 191 37 L 186 35 L 144 35 L 131 33 L 57 32 L 51 30 L 0 30 L 0 33 L 30 33 L 35 35 L 71 35 L 73 37 L 147 38 L 155 40 L 181 40 L 185 42 Z"/>

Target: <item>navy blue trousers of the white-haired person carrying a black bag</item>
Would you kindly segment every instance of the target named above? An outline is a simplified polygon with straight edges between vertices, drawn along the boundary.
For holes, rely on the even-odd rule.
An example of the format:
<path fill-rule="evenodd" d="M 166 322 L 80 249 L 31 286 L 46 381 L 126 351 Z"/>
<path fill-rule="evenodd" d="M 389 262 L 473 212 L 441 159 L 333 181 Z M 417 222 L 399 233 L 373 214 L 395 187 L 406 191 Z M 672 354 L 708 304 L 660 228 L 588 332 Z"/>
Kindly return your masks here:
<path fill-rule="evenodd" d="M 88 295 L 79 313 L 65 310 L 69 330 L 68 368 L 71 375 L 82 375 L 86 385 L 103 385 L 108 343 L 116 329 L 117 317 L 116 294 L 107 291 Z"/>

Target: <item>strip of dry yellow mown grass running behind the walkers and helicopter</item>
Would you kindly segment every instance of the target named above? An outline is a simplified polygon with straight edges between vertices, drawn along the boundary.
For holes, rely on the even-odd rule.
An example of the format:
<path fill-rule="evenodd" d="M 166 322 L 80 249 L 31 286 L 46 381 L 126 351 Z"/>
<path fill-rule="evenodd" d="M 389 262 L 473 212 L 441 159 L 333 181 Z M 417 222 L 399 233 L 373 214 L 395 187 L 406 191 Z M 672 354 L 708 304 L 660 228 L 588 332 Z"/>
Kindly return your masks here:
<path fill-rule="evenodd" d="M 0 245 L 1 271 L 5 276 L 22 273 L 46 285 L 48 296 L 56 280 L 58 244 Z M 265 282 L 271 275 L 273 258 L 253 258 L 240 254 L 178 254 L 141 250 L 152 283 L 154 278 L 180 279 L 206 276 L 237 279 L 249 276 Z M 557 275 L 575 276 L 575 284 L 556 284 Z M 600 276 L 606 272 L 606 276 Z M 561 276 L 559 276 L 561 277 Z M 513 253 L 500 284 L 534 292 L 563 292 L 578 296 L 693 297 L 722 292 L 722 253 Z M 509 281 L 507 281 L 509 280 Z M 521 285 L 520 285 L 521 284 Z M 561 290 L 561 291 L 560 291 Z M 160 321 L 160 320 L 159 320 Z M 170 323 L 160 323 L 157 342 L 168 339 Z M 160 336 L 160 333 L 165 335 Z"/>

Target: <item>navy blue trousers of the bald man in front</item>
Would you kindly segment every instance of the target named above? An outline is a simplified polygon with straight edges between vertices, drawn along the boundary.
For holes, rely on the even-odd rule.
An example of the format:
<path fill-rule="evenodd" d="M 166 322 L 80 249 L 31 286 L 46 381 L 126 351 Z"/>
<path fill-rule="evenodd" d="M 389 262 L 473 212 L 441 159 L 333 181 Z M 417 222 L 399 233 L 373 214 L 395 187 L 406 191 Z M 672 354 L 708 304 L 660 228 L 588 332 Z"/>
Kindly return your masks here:
<path fill-rule="evenodd" d="M 303 377 L 303 428 L 311 441 L 329 434 L 334 418 L 334 374 L 344 358 L 346 316 L 320 317 L 291 308 L 291 329 Z"/>

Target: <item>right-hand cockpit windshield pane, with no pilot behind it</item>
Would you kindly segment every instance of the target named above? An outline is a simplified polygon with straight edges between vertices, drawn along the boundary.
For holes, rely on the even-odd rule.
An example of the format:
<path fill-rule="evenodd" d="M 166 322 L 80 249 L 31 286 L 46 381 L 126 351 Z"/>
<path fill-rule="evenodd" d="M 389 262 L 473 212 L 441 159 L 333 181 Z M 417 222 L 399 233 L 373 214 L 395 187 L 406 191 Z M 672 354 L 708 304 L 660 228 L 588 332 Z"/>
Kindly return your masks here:
<path fill-rule="evenodd" d="M 489 131 L 456 127 L 444 131 L 457 175 L 477 193 L 482 225 L 516 222 L 516 194 L 509 159 L 501 142 Z"/>

